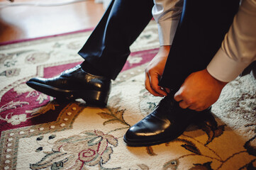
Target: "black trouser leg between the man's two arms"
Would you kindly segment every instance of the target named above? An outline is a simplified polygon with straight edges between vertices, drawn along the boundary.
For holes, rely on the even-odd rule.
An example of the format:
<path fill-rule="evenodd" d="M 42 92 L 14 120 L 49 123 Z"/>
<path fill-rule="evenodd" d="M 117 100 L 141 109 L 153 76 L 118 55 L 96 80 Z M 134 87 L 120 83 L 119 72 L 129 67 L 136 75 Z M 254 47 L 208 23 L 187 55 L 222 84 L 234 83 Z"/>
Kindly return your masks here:
<path fill-rule="evenodd" d="M 189 74 L 206 69 L 233 23 L 239 1 L 184 0 L 160 86 L 175 92 Z"/>

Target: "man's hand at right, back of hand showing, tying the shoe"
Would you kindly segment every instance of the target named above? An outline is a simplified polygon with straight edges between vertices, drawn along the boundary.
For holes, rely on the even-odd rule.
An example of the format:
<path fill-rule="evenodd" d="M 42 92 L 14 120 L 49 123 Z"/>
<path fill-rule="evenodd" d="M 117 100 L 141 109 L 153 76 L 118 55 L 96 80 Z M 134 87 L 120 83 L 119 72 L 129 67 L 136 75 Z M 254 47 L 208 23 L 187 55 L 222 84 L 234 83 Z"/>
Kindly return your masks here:
<path fill-rule="evenodd" d="M 203 111 L 218 100 L 226 82 L 211 76 L 206 69 L 194 72 L 185 79 L 179 91 L 174 95 L 181 108 Z"/>

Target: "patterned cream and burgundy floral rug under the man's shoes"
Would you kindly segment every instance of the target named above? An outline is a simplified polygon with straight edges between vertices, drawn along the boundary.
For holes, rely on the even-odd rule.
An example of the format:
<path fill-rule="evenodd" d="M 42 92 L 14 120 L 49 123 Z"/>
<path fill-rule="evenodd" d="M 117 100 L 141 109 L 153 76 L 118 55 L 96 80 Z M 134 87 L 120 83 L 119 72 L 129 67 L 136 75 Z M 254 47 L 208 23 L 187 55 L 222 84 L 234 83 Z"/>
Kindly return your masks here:
<path fill-rule="evenodd" d="M 152 21 L 130 47 L 113 81 L 106 108 L 57 101 L 26 86 L 82 62 L 77 55 L 91 31 L 0 47 L 1 169 L 256 169 L 256 81 L 230 82 L 213 116 L 177 140 L 128 147 L 123 135 L 161 98 L 144 87 L 144 68 L 157 53 Z"/>

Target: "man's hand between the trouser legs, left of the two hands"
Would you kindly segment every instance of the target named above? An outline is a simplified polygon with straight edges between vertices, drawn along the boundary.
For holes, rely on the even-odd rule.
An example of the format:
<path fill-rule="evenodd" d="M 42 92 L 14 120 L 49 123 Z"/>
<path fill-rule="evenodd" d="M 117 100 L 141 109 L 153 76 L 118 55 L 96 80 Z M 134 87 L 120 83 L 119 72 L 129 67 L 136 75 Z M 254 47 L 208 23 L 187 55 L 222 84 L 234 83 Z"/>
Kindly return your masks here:
<path fill-rule="evenodd" d="M 161 46 L 159 52 L 145 69 L 145 88 L 154 96 L 167 96 L 168 89 L 158 86 L 159 80 L 165 69 L 170 46 Z"/>

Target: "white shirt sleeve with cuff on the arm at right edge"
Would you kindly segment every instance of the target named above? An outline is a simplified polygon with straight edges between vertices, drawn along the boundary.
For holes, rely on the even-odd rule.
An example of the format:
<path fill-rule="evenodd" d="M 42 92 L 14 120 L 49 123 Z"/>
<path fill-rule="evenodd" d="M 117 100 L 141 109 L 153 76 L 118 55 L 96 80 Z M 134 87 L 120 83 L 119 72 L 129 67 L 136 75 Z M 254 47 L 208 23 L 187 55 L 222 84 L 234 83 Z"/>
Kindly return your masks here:
<path fill-rule="evenodd" d="M 214 78 L 229 82 L 255 60 L 256 0 L 244 0 L 207 70 Z"/>

